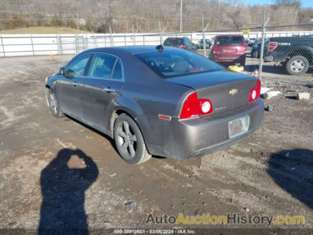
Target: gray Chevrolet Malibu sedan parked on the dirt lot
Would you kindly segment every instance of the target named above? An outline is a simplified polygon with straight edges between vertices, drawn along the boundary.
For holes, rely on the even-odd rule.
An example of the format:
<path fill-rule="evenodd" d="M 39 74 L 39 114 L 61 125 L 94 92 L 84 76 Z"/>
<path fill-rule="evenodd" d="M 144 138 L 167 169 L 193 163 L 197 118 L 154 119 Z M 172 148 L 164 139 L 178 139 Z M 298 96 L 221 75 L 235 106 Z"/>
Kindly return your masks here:
<path fill-rule="evenodd" d="M 260 80 L 174 47 L 89 49 L 47 77 L 45 88 L 55 117 L 107 134 L 130 164 L 203 156 L 263 120 Z"/>

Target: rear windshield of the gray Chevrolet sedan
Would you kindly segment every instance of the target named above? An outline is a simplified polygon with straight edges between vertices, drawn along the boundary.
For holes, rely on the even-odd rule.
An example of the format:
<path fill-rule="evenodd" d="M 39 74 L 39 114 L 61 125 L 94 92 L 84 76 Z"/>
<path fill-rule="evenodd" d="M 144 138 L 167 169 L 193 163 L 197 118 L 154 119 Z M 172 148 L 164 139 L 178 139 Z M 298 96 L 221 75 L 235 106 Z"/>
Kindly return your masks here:
<path fill-rule="evenodd" d="M 223 67 L 211 60 L 182 49 L 175 51 L 147 52 L 135 54 L 134 56 L 162 78 L 224 70 Z"/>

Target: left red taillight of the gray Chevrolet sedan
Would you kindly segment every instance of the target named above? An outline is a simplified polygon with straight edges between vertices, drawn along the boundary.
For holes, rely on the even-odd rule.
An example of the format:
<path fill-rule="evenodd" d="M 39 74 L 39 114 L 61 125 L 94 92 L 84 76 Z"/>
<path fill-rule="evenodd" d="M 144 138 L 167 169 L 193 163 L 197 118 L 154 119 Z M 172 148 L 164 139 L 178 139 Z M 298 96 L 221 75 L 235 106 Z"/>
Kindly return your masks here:
<path fill-rule="evenodd" d="M 193 118 L 213 113 L 213 105 L 209 99 L 198 99 L 196 92 L 185 99 L 179 118 Z"/>

